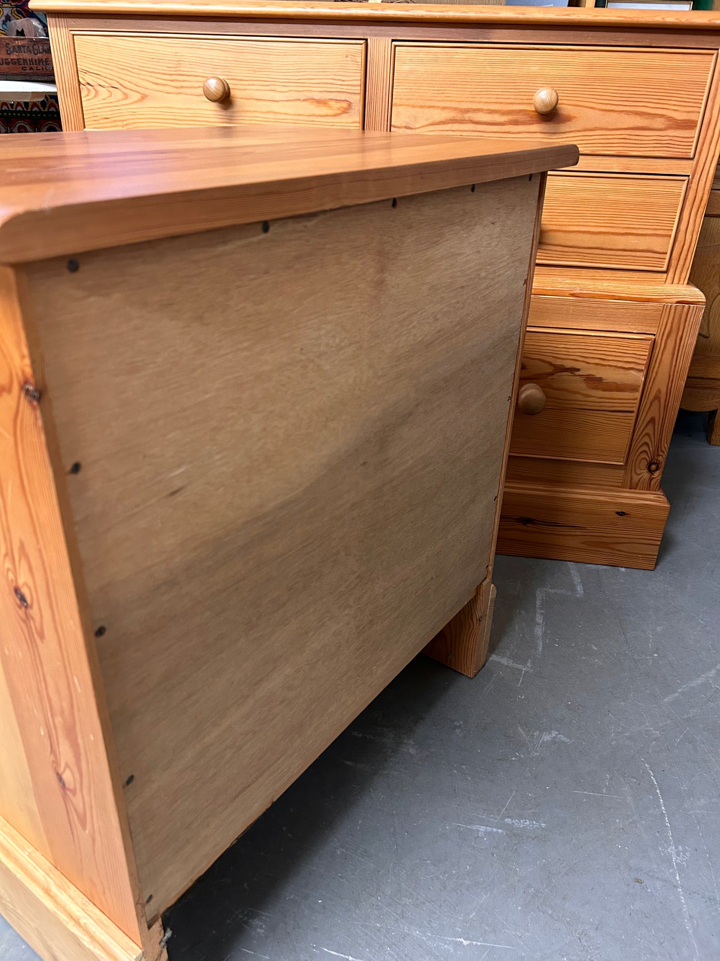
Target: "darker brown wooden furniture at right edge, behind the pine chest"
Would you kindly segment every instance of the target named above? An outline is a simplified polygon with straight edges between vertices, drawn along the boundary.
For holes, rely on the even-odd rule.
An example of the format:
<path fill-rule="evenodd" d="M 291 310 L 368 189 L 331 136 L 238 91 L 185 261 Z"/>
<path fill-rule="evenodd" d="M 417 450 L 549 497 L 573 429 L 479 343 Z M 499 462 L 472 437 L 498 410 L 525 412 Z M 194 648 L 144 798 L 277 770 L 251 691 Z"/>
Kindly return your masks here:
<path fill-rule="evenodd" d="M 720 175 L 715 175 L 700 231 L 690 280 L 703 291 L 708 307 L 685 382 L 681 406 L 709 410 L 708 441 L 720 445 Z"/>

